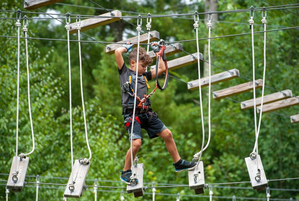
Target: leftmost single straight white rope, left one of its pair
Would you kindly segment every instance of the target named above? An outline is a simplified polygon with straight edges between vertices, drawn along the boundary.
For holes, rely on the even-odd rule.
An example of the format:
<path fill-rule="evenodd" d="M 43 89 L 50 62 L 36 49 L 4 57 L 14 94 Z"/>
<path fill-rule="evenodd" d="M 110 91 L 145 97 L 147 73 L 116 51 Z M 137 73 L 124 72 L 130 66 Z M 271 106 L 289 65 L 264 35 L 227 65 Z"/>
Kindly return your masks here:
<path fill-rule="evenodd" d="M 16 159 L 15 159 L 15 172 L 12 176 L 16 177 L 17 173 L 17 157 L 18 157 L 18 140 L 19 140 L 19 91 L 20 91 L 20 20 L 17 20 L 16 26 L 18 27 L 18 61 L 17 61 L 17 129 L 16 129 Z"/>

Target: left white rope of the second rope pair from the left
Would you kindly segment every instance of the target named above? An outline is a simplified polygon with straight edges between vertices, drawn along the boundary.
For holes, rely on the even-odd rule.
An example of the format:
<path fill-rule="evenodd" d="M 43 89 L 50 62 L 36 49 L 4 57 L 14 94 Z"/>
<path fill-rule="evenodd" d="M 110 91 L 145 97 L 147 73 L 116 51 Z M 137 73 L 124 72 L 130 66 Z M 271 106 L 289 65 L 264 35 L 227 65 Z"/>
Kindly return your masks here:
<path fill-rule="evenodd" d="M 70 128 L 70 140 L 71 140 L 71 163 L 72 163 L 72 172 L 71 172 L 71 177 L 72 177 L 72 182 L 74 182 L 74 158 L 73 158 L 73 127 L 72 127 L 72 85 L 71 85 L 71 55 L 69 51 L 69 22 L 64 26 L 67 35 L 68 35 L 68 57 L 69 57 L 69 128 Z M 69 186 L 71 188 L 74 188 L 74 183 L 70 183 Z"/>

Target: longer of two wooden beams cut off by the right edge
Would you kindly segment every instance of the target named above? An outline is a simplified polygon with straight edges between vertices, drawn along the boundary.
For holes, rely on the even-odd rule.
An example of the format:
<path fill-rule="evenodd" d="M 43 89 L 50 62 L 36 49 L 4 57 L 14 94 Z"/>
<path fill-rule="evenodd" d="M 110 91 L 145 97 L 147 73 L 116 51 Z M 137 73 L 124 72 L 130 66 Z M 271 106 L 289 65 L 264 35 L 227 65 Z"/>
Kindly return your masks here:
<path fill-rule="evenodd" d="M 273 110 L 287 108 L 294 105 L 299 105 L 299 96 L 265 104 L 263 105 L 263 112 L 271 112 Z M 261 106 L 257 107 L 256 111 L 259 113 L 261 111 Z"/>

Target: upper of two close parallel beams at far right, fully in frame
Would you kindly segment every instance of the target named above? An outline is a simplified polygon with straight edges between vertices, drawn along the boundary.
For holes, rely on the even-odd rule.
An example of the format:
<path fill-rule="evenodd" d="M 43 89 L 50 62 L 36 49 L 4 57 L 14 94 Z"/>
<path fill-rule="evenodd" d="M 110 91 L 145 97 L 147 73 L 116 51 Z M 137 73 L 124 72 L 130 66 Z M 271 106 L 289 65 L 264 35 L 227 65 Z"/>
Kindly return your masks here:
<path fill-rule="evenodd" d="M 272 103 L 274 101 L 286 99 L 292 97 L 292 91 L 290 89 L 286 89 L 280 92 L 271 93 L 269 95 L 264 96 L 263 104 L 264 103 Z M 262 97 L 255 98 L 256 105 L 259 106 L 262 103 Z M 249 109 L 254 107 L 254 100 L 250 99 L 247 101 L 241 102 L 241 109 Z"/>

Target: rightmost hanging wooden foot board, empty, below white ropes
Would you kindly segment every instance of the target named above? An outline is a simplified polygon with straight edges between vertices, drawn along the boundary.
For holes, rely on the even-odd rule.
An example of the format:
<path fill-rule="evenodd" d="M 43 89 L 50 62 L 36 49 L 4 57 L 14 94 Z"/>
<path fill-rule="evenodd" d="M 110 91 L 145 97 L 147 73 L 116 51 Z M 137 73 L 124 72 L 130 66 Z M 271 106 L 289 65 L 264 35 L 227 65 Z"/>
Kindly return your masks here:
<path fill-rule="evenodd" d="M 246 166 L 248 169 L 250 182 L 253 189 L 264 190 L 268 187 L 268 180 L 265 175 L 263 164 L 259 155 L 251 159 L 250 157 L 245 158 Z M 260 177 L 257 177 L 257 171 L 260 170 Z"/>

